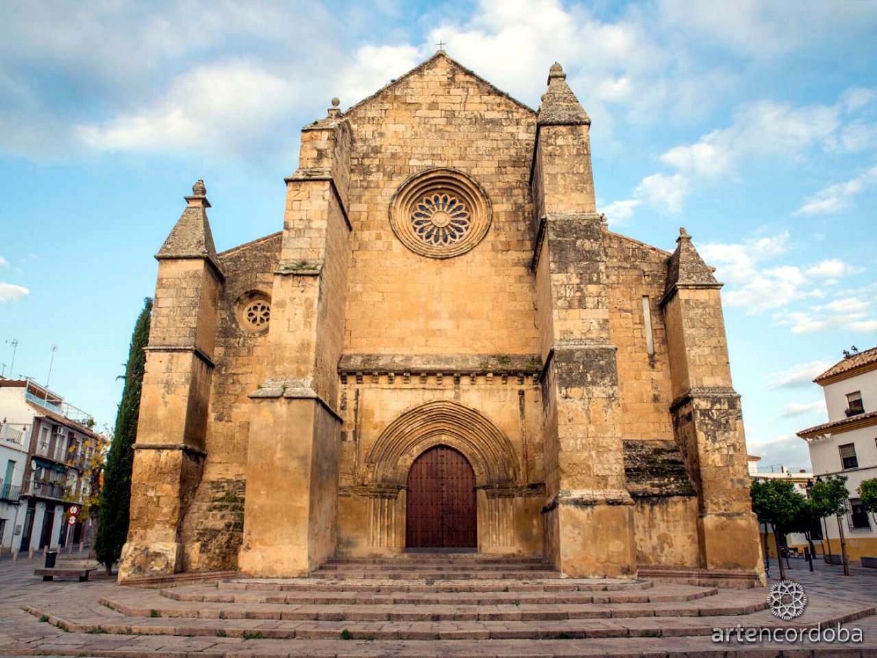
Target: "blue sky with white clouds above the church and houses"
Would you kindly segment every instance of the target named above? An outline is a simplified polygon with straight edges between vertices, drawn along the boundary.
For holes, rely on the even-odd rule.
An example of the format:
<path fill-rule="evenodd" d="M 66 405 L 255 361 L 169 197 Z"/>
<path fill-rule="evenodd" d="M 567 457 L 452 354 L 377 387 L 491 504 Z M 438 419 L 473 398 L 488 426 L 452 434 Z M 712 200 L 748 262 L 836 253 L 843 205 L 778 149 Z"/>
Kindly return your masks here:
<path fill-rule="evenodd" d="M 446 51 L 590 114 L 610 228 L 725 283 L 750 452 L 807 466 L 810 379 L 877 344 L 877 2 L 3 2 L 0 361 L 111 423 L 158 250 L 197 178 L 217 247 L 282 226 L 299 128 Z"/>

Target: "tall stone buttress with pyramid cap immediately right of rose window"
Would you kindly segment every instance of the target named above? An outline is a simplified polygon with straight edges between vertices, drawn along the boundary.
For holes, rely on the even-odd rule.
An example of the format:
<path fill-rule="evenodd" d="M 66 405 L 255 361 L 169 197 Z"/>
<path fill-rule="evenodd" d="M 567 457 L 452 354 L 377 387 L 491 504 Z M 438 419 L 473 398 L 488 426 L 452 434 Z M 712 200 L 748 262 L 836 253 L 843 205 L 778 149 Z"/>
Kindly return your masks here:
<path fill-rule="evenodd" d="M 532 170 L 545 432 L 545 550 L 570 576 L 635 576 L 616 347 L 590 119 L 553 65 Z"/>

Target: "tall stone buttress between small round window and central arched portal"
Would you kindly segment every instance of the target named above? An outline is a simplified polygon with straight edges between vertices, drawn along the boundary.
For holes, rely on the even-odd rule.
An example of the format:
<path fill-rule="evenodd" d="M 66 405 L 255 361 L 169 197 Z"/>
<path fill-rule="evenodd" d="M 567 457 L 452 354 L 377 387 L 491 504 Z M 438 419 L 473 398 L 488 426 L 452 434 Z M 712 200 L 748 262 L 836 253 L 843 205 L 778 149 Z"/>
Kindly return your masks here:
<path fill-rule="evenodd" d="M 335 552 L 351 132 L 337 108 L 302 130 L 287 179 L 267 379 L 254 390 L 239 569 L 294 576 Z"/>

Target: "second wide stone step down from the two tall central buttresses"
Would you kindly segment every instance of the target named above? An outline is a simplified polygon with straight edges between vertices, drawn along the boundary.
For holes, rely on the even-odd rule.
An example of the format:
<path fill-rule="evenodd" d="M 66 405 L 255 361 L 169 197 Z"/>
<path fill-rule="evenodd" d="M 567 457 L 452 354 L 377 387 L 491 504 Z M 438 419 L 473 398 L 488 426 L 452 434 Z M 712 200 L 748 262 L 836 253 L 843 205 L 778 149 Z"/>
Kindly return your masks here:
<path fill-rule="evenodd" d="M 687 585 L 656 587 L 649 590 L 617 591 L 489 591 L 489 592 L 404 592 L 404 591 L 277 591 L 217 590 L 211 588 L 172 588 L 160 590 L 162 597 L 182 602 L 234 604 L 325 604 L 325 605 L 492 605 L 492 604 L 620 604 L 695 601 L 712 597 L 716 588 Z"/>

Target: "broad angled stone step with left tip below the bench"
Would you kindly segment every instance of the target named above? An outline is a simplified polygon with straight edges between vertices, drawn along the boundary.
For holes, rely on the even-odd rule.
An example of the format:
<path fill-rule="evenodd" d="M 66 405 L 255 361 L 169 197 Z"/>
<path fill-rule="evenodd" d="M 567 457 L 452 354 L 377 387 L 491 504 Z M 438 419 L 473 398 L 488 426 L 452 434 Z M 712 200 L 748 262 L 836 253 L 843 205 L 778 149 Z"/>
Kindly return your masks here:
<path fill-rule="evenodd" d="M 763 592 L 761 592 L 763 593 Z M 763 597 L 759 597 L 763 601 Z M 754 603 L 754 602 L 753 602 Z M 783 622 L 770 612 L 745 616 L 624 617 L 612 619 L 503 621 L 312 621 L 286 619 L 126 618 L 116 612 L 82 611 L 74 602 L 25 606 L 40 619 L 71 633 L 183 635 L 255 639 L 337 640 L 552 640 L 709 635 L 715 628 L 803 628 L 830 626 L 873 614 L 873 607 L 813 604 L 807 619 Z M 377 648 L 377 647 L 376 647 Z M 391 649 L 391 647 L 387 647 Z M 482 650 L 490 651 L 489 646 Z M 533 653 L 538 654 L 538 647 Z M 439 647 L 436 647 L 438 653 Z M 396 654 L 386 650 L 386 654 Z M 479 652 L 481 654 L 481 652 Z M 379 653 L 380 655 L 380 653 Z M 482 654 L 483 655 L 483 654 Z M 488 654 L 490 655 L 490 654 Z"/>

